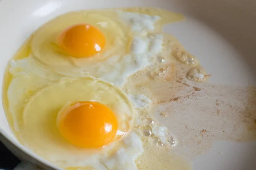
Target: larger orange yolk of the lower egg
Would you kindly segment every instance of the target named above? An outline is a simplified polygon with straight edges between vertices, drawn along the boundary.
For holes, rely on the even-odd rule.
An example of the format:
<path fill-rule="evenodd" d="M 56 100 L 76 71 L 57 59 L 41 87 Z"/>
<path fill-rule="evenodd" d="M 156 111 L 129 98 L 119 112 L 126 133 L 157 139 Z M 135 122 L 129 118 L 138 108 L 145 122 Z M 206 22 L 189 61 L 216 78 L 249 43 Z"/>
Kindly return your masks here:
<path fill-rule="evenodd" d="M 59 132 L 76 146 L 102 147 L 113 141 L 116 135 L 115 114 L 99 102 L 76 102 L 58 114 L 61 114 L 57 119 Z"/>

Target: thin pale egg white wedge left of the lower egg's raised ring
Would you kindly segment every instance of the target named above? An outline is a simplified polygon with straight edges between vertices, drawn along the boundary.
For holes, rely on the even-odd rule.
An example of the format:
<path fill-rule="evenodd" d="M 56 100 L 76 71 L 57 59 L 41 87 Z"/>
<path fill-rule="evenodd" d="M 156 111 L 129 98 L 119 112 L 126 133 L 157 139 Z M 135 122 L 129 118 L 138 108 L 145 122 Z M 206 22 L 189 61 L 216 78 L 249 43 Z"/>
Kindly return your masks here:
<path fill-rule="evenodd" d="M 9 66 L 9 72 L 13 79 L 7 90 L 8 109 L 14 119 L 14 129 L 18 132 L 18 124 L 21 118 L 20 111 L 23 110 L 29 96 L 50 83 L 58 81 L 61 76 L 42 67 L 32 57 L 11 60 Z"/>

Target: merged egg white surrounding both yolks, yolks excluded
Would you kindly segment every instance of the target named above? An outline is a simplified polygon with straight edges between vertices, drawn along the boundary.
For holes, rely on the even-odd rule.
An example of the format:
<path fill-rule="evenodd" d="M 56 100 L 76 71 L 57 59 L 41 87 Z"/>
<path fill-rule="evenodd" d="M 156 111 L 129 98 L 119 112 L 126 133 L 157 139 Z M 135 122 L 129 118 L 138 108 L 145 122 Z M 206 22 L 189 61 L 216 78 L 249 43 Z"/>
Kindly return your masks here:
<path fill-rule="evenodd" d="M 102 54 L 84 59 L 76 59 L 59 53 L 54 44 L 55 36 L 51 34 L 53 28 L 56 26 L 61 31 L 67 26 L 87 22 L 84 20 L 87 14 L 90 16 L 91 24 L 101 27 L 106 36 L 110 35 L 108 40 L 113 40 L 116 46 L 108 47 L 107 45 Z M 122 87 L 127 77 L 148 66 L 153 65 L 152 68 L 157 66 L 154 64 L 158 62 L 159 56 L 161 60 L 163 59 L 161 57 L 164 56 L 166 57 L 164 59 L 168 61 L 173 48 L 173 39 L 166 38 L 165 34 L 161 32 L 154 32 L 155 24 L 160 18 L 154 15 L 119 10 L 96 10 L 65 14 L 59 17 L 60 25 L 54 24 L 58 20 L 57 18 L 47 23 L 50 25 L 48 28 L 47 25 L 40 28 L 32 40 L 32 54 L 27 58 L 10 62 L 9 72 L 13 79 L 8 88 L 9 111 L 15 117 L 14 122 L 19 132 L 17 135 L 20 141 L 39 156 L 60 167 L 90 167 L 96 170 L 116 170 L 120 167 L 124 170 L 136 170 L 139 164 L 137 161 L 144 153 L 148 153 L 145 152 L 145 148 L 147 151 L 152 150 L 150 153 L 153 155 L 159 153 L 158 146 L 163 145 L 163 149 L 166 149 L 175 142 L 177 143 L 172 133 L 164 125 L 158 124 L 150 114 L 147 116 L 143 114 L 144 111 L 149 111 L 152 102 L 142 94 L 128 95 L 128 97 L 125 95 L 125 101 L 133 102 L 136 108 L 136 111 L 133 111 L 135 113 L 133 116 L 127 114 L 119 117 L 121 125 L 124 126 L 122 128 L 127 130 L 129 127 L 129 133 L 103 147 L 102 150 L 81 149 L 67 143 L 55 127 L 56 115 L 46 116 L 42 113 L 47 109 L 57 113 L 66 101 L 83 100 L 83 96 L 86 94 L 90 96 L 94 92 L 100 97 L 90 99 L 106 104 L 105 101 L 113 97 L 113 105 L 117 110 L 122 110 L 122 106 L 117 103 L 120 104 L 123 98 L 116 98 L 119 95 L 116 95 L 115 92 L 111 93 L 111 89 L 108 89 L 109 97 L 104 96 L 102 99 L 102 90 L 97 89 L 99 84 L 102 85 L 99 82 L 106 83 L 109 87 L 113 87 L 113 84 L 110 83 L 113 82 L 116 86 Z M 93 21 L 94 19 L 96 22 Z M 55 32 L 57 33 L 58 30 Z M 45 32 L 49 34 L 45 34 Z M 90 77 L 97 83 L 92 83 L 88 89 L 83 83 L 68 88 L 72 82 L 76 83 L 79 79 L 88 76 L 99 79 Z M 52 88 L 60 84 L 62 85 L 58 88 Z M 47 89 L 55 90 L 49 90 L 47 95 L 41 96 Z M 76 98 L 76 95 L 80 96 Z M 37 100 L 38 96 L 42 98 Z M 65 101 L 59 102 L 60 99 Z M 56 107 L 57 105 L 58 107 Z M 110 107 L 113 107 L 111 105 Z M 37 111 L 38 108 L 42 109 Z M 150 147 L 146 143 L 148 140 L 153 141 Z M 166 153 L 165 151 L 165 155 Z M 145 167 L 145 169 L 147 168 Z"/>

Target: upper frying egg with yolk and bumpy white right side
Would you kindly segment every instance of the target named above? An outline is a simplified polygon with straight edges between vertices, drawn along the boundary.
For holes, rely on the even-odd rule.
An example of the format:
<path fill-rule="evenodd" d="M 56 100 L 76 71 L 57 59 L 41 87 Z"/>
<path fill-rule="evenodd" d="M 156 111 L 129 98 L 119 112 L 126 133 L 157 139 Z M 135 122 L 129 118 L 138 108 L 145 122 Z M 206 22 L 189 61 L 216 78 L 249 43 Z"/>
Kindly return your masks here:
<path fill-rule="evenodd" d="M 69 77 L 93 77 L 122 86 L 154 64 L 163 36 L 154 32 L 159 16 L 120 10 L 68 13 L 35 32 L 33 57 Z"/>

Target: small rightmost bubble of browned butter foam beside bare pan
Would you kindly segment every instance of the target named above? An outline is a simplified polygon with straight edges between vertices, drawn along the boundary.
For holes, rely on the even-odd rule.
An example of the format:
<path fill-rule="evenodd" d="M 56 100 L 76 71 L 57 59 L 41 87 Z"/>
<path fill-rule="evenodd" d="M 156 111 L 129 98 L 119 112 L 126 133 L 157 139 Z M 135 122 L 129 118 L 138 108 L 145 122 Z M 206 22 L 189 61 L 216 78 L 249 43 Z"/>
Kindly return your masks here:
<path fill-rule="evenodd" d="M 187 78 L 195 82 L 203 82 L 207 79 L 204 68 L 200 66 L 190 69 Z"/>

